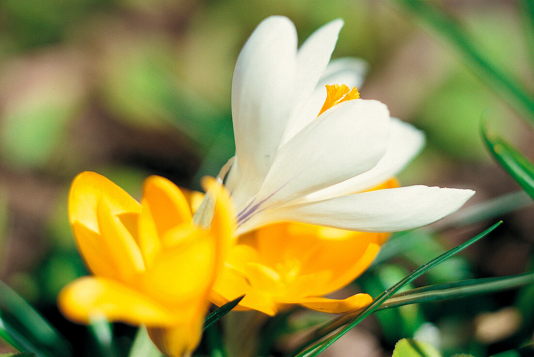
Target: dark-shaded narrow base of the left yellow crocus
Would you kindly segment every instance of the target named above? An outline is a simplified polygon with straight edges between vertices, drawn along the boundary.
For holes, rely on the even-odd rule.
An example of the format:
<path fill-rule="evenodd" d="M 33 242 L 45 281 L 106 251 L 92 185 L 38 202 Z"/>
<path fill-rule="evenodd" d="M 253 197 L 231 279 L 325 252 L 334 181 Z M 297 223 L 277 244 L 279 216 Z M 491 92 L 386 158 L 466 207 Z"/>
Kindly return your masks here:
<path fill-rule="evenodd" d="M 169 328 L 149 328 L 148 336 L 164 355 L 188 357 L 200 343 L 203 321 L 204 314 L 198 314 Z"/>

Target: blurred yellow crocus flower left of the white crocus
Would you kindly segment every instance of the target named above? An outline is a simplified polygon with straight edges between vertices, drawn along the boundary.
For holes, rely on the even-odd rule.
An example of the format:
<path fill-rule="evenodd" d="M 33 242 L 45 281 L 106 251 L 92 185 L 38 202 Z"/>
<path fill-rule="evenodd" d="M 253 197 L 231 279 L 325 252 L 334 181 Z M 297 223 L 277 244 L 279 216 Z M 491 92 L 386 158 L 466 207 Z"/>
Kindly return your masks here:
<path fill-rule="evenodd" d="M 229 247 L 235 214 L 221 185 L 213 223 L 193 223 L 192 210 L 169 180 L 145 180 L 143 200 L 95 172 L 82 172 L 70 188 L 68 211 L 76 243 L 93 276 L 61 291 L 58 304 L 70 320 L 144 324 L 171 357 L 197 347 L 209 291 Z"/>

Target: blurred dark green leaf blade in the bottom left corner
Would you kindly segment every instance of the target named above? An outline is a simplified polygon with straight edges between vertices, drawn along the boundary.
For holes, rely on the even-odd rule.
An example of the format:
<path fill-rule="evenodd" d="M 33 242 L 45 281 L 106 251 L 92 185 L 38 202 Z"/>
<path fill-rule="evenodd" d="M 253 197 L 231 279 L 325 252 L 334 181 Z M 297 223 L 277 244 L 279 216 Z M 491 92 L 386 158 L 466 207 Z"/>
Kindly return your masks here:
<path fill-rule="evenodd" d="M 46 321 L 25 299 L 0 281 L 0 307 L 13 316 L 26 328 L 28 338 L 56 356 L 70 356 L 70 344 L 60 333 Z"/>

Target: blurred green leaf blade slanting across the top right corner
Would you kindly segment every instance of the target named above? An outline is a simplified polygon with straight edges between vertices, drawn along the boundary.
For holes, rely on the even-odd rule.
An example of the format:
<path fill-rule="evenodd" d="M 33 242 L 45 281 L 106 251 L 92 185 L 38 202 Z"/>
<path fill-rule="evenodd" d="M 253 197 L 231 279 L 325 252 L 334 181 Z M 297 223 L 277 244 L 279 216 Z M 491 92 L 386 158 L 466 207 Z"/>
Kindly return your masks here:
<path fill-rule="evenodd" d="M 427 1 L 395 0 L 394 2 L 456 47 L 469 68 L 492 90 L 502 94 L 502 98 L 520 114 L 528 115 L 530 123 L 534 125 L 532 96 L 517 81 L 501 72 L 498 66 L 487 59 L 456 21 Z"/>

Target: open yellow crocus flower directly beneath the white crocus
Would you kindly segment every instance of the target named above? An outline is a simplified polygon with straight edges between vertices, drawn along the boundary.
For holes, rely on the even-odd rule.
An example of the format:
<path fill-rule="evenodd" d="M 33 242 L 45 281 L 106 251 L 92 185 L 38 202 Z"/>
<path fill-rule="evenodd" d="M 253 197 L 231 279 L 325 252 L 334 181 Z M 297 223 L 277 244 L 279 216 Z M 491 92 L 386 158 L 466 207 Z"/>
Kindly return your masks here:
<path fill-rule="evenodd" d="M 391 179 L 375 189 L 394 187 L 397 181 Z M 388 237 L 295 222 L 263 226 L 238 237 L 211 299 L 223 305 L 245 295 L 235 310 L 271 316 L 295 304 L 329 313 L 356 312 L 371 303 L 370 295 L 323 296 L 362 274 Z"/>

